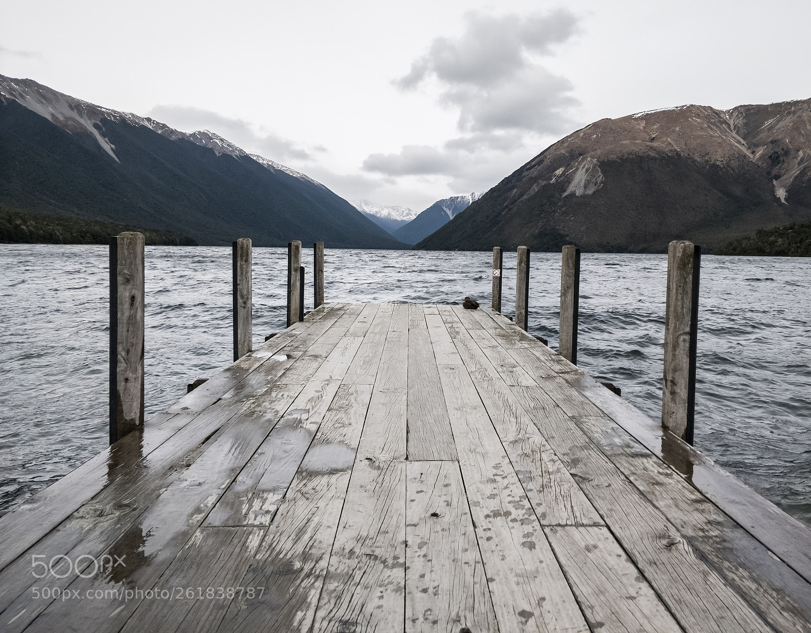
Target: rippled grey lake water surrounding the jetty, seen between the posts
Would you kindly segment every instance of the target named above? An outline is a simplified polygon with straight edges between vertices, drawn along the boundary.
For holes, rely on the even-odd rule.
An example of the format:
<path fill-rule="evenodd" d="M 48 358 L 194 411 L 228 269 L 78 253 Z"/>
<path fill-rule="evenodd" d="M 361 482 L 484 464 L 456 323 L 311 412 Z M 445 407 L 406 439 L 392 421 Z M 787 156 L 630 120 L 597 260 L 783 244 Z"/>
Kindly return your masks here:
<path fill-rule="evenodd" d="M 328 250 L 327 300 L 489 302 L 490 258 Z M 512 314 L 515 254 L 504 259 Z M 285 325 L 286 261 L 254 249 L 255 344 Z M 230 263 L 230 248 L 147 248 L 149 415 L 230 363 Z M 583 254 L 581 267 L 578 364 L 658 418 L 666 256 Z M 105 246 L 0 245 L 0 510 L 105 446 L 107 274 Z M 560 254 L 533 254 L 530 330 L 553 349 L 559 297 Z M 811 259 L 702 261 L 696 446 L 811 524 L 809 306 Z"/>

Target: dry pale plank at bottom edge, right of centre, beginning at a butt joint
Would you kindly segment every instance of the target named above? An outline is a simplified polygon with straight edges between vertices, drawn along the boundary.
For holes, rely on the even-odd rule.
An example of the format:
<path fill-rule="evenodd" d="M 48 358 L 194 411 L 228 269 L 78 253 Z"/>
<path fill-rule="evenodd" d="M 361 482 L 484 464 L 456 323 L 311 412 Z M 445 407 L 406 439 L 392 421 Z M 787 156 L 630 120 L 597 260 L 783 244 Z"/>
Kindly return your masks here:
<path fill-rule="evenodd" d="M 682 629 L 607 528 L 544 528 L 593 631 Z"/>

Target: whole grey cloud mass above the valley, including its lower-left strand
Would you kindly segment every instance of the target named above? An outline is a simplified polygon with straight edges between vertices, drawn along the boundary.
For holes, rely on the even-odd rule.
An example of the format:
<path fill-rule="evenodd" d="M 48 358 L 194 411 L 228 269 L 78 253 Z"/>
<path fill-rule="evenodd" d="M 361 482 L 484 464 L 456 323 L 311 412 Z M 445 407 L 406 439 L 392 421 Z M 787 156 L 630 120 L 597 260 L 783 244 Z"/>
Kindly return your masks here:
<path fill-rule="evenodd" d="M 504 177 L 509 172 L 496 174 L 496 166 L 503 169 L 519 156 L 526 160 L 532 155 L 527 148 L 537 152 L 540 139 L 572 126 L 569 112 L 578 105 L 573 83 L 539 58 L 569 41 L 577 28 L 577 17 L 564 9 L 527 16 L 466 14 L 461 36 L 437 37 L 408 74 L 393 82 L 403 91 L 439 87 L 440 104 L 459 113 L 459 136 L 440 147 L 404 145 L 399 152 L 371 154 L 363 169 L 389 177 L 444 175 L 452 186 L 474 181 L 481 187 L 481 178 L 493 184 Z"/>

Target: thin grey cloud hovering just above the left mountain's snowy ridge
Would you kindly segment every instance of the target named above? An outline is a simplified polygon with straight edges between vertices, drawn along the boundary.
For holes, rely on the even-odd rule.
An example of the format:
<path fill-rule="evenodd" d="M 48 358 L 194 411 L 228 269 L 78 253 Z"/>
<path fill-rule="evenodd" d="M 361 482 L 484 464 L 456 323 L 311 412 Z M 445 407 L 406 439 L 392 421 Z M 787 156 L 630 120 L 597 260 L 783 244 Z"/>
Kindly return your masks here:
<path fill-rule="evenodd" d="M 257 134 L 250 123 L 238 118 L 228 118 L 209 110 L 184 105 L 156 105 L 148 115 L 178 130 L 211 130 L 239 147 L 253 154 L 260 154 L 271 160 L 308 160 L 311 152 L 322 152 L 324 148 L 312 148 L 311 152 L 298 147 L 293 141 L 272 133 Z"/>

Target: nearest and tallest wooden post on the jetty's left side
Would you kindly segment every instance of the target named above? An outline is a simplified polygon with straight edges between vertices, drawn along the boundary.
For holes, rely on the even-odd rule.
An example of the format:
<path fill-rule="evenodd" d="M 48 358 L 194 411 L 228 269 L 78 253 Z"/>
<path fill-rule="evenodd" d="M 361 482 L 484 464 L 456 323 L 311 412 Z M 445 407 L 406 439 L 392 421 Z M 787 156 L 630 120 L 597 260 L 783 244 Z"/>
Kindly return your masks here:
<path fill-rule="evenodd" d="M 109 238 L 109 443 L 144 425 L 144 236 Z"/>

